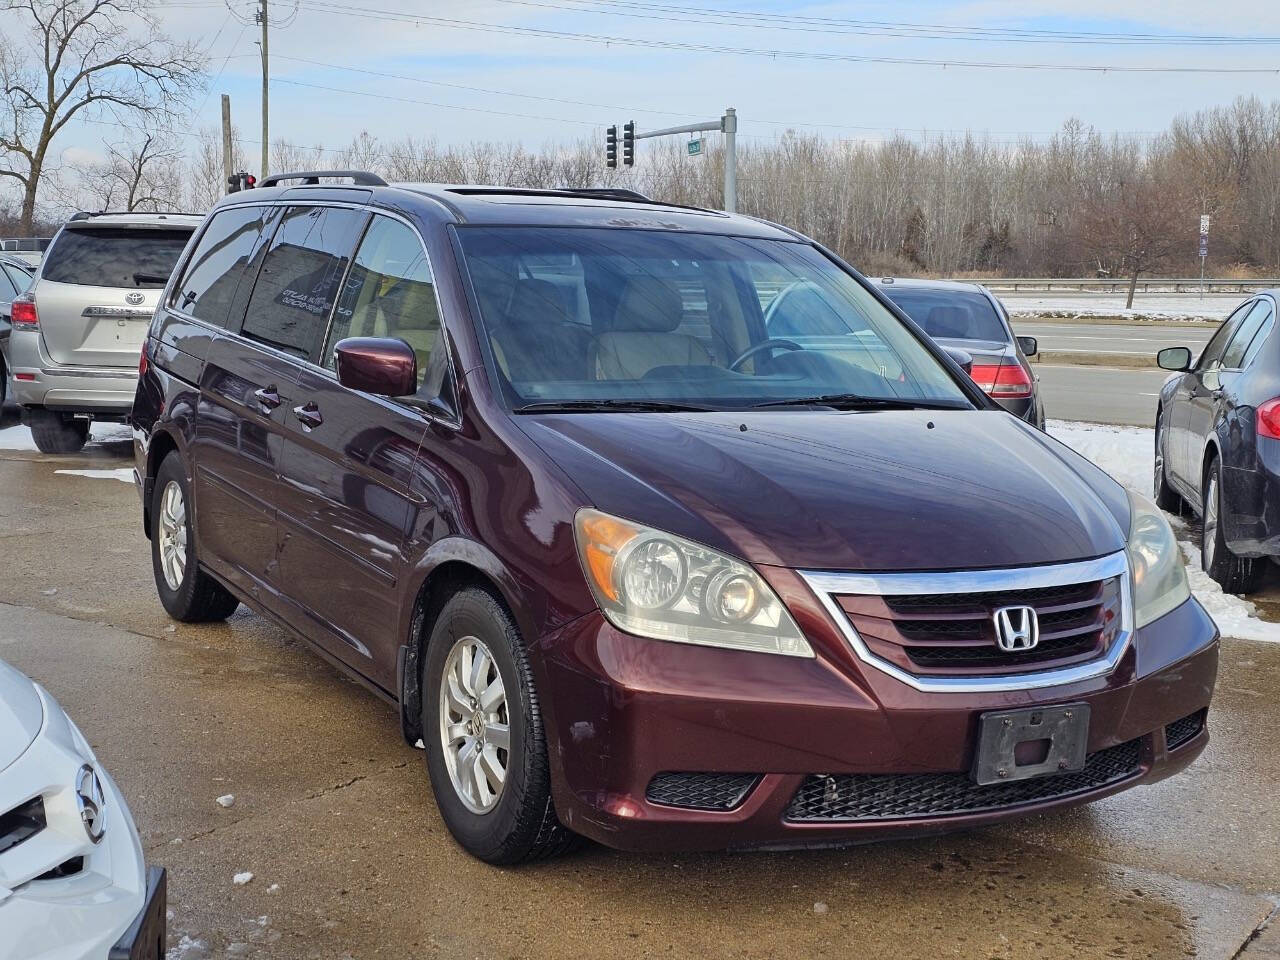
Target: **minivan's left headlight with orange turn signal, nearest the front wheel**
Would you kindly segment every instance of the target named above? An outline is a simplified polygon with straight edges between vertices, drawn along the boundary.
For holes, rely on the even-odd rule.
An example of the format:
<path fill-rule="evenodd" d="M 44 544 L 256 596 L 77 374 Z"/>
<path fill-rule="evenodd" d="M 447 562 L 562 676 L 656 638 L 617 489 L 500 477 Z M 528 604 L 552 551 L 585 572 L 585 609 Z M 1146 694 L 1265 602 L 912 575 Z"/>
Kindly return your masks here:
<path fill-rule="evenodd" d="M 573 529 L 586 582 L 618 630 L 813 657 L 786 607 L 741 561 L 595 509 L 580 509 Z"/>

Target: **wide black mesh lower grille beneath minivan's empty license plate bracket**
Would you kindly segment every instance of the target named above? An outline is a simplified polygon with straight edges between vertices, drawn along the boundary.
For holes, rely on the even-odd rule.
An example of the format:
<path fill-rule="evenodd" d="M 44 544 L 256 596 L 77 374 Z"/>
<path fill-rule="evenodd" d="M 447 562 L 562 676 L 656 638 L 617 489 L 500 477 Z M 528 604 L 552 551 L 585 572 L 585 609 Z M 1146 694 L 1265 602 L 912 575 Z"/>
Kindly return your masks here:
<path fill-rule="evenodd" d="M 1091 754 L 1084 769 L 1011 783 L 974 783 L 965 773 L 844 773 L 805 777 L 788 820 L 897 820 L 946 817 L 1057 800 L 1135 776 L 1142 740 Z"/>

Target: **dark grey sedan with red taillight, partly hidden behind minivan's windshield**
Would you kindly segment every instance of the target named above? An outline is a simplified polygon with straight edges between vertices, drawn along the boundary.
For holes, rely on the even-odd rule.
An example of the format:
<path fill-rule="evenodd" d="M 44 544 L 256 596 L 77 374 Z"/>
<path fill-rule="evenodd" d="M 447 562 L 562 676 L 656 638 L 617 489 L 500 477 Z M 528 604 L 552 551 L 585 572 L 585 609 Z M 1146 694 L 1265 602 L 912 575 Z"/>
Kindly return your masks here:
<path fill-rule="evenodd" d="M 881 292 L 945 347 L 973 357 L 969 375 L 996 403 L 1028 424 L 1044 429 L 1039 378 L 1028 362 L 1034 337 L 1015 337 L 1009 314 L 978 283 L 909 280 L 884 276 Z"/>

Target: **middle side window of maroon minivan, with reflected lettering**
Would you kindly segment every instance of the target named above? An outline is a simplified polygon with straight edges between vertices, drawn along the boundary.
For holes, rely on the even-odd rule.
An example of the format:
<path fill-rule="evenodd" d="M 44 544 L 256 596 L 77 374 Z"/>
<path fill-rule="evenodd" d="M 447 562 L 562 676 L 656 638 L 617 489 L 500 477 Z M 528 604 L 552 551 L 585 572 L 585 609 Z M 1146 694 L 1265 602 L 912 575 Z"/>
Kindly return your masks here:
<path fill-rule="evenodd" d="M 302 360 L 314 357 L 365 216 L 346 207 L 289 207 L 262 260 L 241 333 Z"/>

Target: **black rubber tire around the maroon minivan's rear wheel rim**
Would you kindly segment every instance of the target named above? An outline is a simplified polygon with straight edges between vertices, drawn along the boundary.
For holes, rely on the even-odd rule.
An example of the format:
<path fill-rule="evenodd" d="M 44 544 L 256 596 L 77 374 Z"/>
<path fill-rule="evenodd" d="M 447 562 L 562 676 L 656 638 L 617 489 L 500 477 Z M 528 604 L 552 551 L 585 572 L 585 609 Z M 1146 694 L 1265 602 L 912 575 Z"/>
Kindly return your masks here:
<path fill-rule="evenodd" d="M 175 577 L 177 586 L 170 586 L 165 573 L 164 550 L 165 525 L 170 520 L 165 511 L 165 492 L 170 484 L 177 484 L 182 494 L 182 527 L 178 545 L 182 550 L 182 575 Z M 196 536 L 191 525 L 191 485 L 187 471 L 177 452 L 170 453 L 156 471 L 155 490 L 151 494 L 151 570 L 156 579 L 156 593 L 160 603 L 174 620 L 183 623 L 212 623 L 227 620 L 239 607 L 239 600 L 216 580 L 200 568 L 196 556 Z M 172 571 L 170 571 L 172 572 Z"/>

